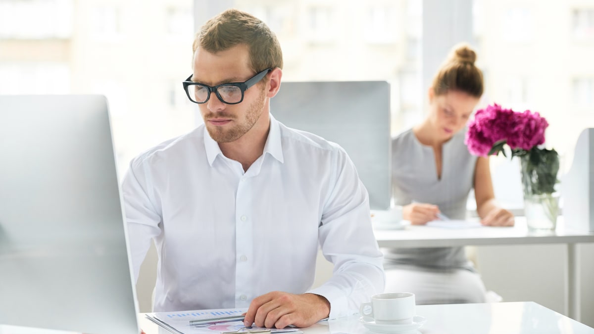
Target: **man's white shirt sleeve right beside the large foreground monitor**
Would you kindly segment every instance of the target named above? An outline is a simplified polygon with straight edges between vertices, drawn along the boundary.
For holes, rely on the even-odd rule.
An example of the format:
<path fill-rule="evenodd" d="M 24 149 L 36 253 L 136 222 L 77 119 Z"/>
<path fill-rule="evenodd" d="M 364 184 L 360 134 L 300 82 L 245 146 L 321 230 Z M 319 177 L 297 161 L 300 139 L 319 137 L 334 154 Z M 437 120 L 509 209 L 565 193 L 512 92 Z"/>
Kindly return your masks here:
<path fill-rule="evenodd" d="M 140 265 L 149 250 L 151 239 L 161 234 L 162 216 L 156 200 L 149 196 L 153 190 L 150 175 L 147 175 L 144 163 L 140 158 L 132 160 L 130 168 L 122 182 L 124 212 L 128 228 L 128 242 L 134 281 L 138 281 Z"/>

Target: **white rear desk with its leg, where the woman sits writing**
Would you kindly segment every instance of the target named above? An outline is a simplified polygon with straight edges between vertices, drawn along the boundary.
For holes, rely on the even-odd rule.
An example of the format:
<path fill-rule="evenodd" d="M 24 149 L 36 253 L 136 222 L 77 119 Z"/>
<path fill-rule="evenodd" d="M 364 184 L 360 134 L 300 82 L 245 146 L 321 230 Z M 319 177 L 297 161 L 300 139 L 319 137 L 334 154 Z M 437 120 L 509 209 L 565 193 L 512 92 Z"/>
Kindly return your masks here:
<path fill-rule="evenodd" d="M 579 259 L 576 244 L 594 242 L 594 233 L 574 231 L 565 228 L 563 217 L 557 220 L 554 232 L 531 232 L 526 219 L 516 218 L 513 227 L 480 227 L 468 229 L 446 229 L 428 226 L 406 226 L 405 229 L 374 229 L 380 247 L 450 247 L 466 245 L 527 245 L 567 244 L 567 299 L 568 315 L 580 320 Z"/>

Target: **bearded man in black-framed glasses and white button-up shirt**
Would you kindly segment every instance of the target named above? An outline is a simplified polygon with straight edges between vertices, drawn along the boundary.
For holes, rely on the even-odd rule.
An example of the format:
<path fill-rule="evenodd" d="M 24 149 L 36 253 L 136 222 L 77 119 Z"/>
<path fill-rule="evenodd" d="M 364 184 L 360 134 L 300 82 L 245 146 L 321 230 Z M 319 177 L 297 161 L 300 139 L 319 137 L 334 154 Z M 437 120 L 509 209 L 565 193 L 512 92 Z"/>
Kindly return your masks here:
<path fill-rule="evenodd" d="M 277 328 L 356 313 L 384 288 L 368 195 L 342 148 L 270 114 L 276 36 L 228 10 L 193 49 L 183 86 L 204 125 L 136 157 L 122 185 L 136 278 L 156 242 L 154 310 L 249 307 L 246 326 Z M 311 289 L 318 245 L 334 274 Z"/>

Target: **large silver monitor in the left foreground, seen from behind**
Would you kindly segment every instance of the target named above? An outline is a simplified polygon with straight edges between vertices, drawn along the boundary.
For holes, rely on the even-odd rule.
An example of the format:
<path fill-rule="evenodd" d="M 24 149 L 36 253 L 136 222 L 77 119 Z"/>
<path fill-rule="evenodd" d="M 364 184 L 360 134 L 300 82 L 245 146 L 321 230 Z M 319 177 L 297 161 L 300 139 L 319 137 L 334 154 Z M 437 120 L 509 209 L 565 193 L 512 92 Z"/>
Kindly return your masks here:
<path fill-rule="evenodd" d="M 0 324 L 138 334 L 103 96 L 0 96 Z"/>

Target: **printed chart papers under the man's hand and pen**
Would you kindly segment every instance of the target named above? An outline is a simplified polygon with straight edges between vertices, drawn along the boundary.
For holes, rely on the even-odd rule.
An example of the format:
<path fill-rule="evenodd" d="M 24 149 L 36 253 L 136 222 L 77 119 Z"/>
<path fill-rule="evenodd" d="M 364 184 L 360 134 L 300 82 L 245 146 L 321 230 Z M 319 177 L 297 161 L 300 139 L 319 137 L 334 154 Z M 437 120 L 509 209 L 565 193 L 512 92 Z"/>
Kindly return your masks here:
<path fill-rule="evenodd" d="M 197 310 L 182 312 L 155 312 L 147 313 L 146 316 L 154 323 L 169 330 L 173 334 L 219 334 L 222 332 L 235 332 L 244 328 L 244 322 L 228 322 L 206 324 L 201 326 L 190 326 L 190 320 L 210 319 L 213 317 L 225 317 L 241 315 L 248 311 L 247 308 L 220 308 L 217 310 Z M 251 327 L 251 330 L 263 329 L 261 327 Z M 247 332 L 247 330 L 241 330 Z M 287 327 L 283 329 L 270 329 L 271 333 L 303 333 L 298 328 Z"/>

